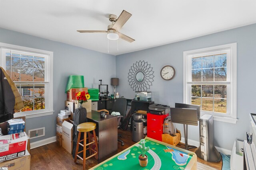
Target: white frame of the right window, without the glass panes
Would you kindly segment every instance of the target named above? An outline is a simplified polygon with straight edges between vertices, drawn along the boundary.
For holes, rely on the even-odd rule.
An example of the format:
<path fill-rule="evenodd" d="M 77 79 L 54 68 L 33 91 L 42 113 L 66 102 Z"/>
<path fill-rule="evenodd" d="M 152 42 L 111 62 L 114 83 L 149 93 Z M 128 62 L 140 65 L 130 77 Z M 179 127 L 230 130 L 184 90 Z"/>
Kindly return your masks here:
<path fill-rule="evenodd" d="M 216 113 L 211 111 L 202 111 L 201 116 L 204 114 L 213 115 L 214 120 L 216 121 L 223 121 L 228 123 L 236 123 L 237 121 L 237 109 L 236 109 L 236 43 L 226 44 L 226 45 L 219 45 L 215 47 L 208 47 L 203 49 L 196 49 L 190 51 L 183 52 L 183 102 L 185 104 L 191 104 L 191 86 L 189 84 L 189 76 L 191 74 L 191 70 L 188 69 L 189 59 L 191 59 L 191 55 L 198 55 L 202 53 L 210 53 L 214 51 L 221 51 L 221 50 L 230 50 L 230 84 L 227 85 L 227 113 Z M 227 62 L 228 68 L 228 62 Z"/>

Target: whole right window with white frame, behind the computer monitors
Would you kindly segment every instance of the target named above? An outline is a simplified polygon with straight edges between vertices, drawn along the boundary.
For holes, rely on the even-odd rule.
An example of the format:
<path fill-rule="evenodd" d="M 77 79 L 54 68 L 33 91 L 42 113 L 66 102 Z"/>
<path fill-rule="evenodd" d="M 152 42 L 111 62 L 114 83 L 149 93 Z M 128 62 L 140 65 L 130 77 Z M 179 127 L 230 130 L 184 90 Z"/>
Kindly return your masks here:
<path fill-rule="evenodd" d="M 184 51 L 184 103 L 236 123 L 236 43 Z"/>

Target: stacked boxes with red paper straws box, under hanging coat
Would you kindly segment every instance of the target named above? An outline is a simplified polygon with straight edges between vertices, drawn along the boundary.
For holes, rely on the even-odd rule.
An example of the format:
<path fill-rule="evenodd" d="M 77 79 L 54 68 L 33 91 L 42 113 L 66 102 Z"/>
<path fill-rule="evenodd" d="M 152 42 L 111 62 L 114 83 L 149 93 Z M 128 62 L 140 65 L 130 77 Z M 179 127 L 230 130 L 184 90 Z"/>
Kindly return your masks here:
<path fill-rule="evenodd" d="M 3 133 L 0 136 L 0 167 L 8 170 L 30 169 L 30 140 L 23 132 L 24 119 L 11 119 L 0 124 L 0 128 Z"/>

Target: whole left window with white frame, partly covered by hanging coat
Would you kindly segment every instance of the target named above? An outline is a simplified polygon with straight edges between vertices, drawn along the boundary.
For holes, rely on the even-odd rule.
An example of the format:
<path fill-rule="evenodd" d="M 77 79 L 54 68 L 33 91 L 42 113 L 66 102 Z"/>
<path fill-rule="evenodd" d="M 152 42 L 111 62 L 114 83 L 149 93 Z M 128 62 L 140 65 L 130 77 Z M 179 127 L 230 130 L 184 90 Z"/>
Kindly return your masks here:
<path fill-rule="evenodd" d="M 52 52 L 5 43 L 0 43 L 0 49 L 0 66 L 15 83 L 25 106 L 14 116 L 52 114 Z"/>

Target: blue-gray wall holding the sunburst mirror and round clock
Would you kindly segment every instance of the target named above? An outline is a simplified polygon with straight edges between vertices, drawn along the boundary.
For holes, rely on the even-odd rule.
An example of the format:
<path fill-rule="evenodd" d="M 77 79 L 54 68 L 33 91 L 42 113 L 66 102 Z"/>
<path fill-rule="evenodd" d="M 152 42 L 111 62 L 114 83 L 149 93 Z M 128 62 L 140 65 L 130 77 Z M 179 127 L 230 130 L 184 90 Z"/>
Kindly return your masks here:
<path fill-rule="evenodd" d="M 256 24 L 230 29 L 186 41 L 171 43 L 133 53 L 116 56 L 116 76 L 119 78 L 117 92 L 125 98 L 134 98 L 130 88 L 128 72 L 136 61 L 147 61 L 154 71 L 154 82 L 150 87 L 155 103 L 174 107 L 175 102 L 183 102 L 183 51 L 213 47 L 228 43 L 237 43 L 237 117 L 236 124 L 214 121 L 215 146 L 232 150 L 235 139 L 246 139 L 249 131 L 249 113 L 256 108 Z M 160 70 L 165 65 L 174 66 L 176 76 L 170 81 L 160 77 Z M 183 126 L 177 124 L 178 129 Z M 190 126 L 188 139 L 199 141 L 199 128 Z"/>

